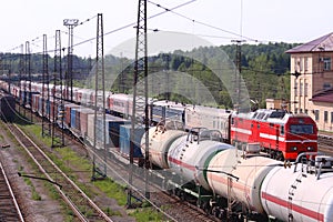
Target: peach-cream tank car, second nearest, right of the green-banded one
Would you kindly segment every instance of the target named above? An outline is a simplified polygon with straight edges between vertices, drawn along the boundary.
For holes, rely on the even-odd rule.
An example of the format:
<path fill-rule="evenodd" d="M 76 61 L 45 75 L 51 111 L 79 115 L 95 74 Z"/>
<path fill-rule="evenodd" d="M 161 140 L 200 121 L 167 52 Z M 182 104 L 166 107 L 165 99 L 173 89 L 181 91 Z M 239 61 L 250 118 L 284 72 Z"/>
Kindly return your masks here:
<path fill-rule="evenodd" d="M 206 170 L 209 185 L 214 193 L 230 196 L 245 204 L 248 209 L 263 213 L 261 184 L 272 168 L 282 162 L 264 157 L 242 158 L 242 154 L 243 152 L 236 153 L 235 150 L 216 154 Z"/>

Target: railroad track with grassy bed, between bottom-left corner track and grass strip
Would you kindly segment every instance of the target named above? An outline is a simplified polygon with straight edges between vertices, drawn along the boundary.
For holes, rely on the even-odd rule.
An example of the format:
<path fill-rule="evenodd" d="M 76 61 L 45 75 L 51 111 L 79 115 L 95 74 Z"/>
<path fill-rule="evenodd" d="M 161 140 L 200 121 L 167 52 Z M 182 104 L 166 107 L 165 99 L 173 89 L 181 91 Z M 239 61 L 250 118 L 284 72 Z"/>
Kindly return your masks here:
<path fill-rule="evenodd" d="M 19 141 L 42 172 L 42 180 L 54 184 L 63 201 L 80 221 L 112 220 L 88 195 L 63 173 L 53 161 L 16 124 L 7 123 L 9 131 Z M 1 218 L 0 218 L 1 219 Z"/>

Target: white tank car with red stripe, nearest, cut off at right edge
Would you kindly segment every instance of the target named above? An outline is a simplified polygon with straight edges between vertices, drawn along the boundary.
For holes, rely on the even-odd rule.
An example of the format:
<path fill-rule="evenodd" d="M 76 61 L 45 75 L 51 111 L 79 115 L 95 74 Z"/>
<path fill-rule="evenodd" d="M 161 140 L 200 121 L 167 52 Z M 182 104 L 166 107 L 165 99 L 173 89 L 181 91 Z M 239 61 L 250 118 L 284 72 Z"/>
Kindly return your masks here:
<path fill-rule="evenodd" d="M 316 157 L 316 167 L 299 163 L 290 169 L 273 169 L 266 175 L 261 198 L 269 215 L 292 222 L 333 220 L 332 157 L 324 158 L 325 167 L 320 170 L 321 159 Z"/>

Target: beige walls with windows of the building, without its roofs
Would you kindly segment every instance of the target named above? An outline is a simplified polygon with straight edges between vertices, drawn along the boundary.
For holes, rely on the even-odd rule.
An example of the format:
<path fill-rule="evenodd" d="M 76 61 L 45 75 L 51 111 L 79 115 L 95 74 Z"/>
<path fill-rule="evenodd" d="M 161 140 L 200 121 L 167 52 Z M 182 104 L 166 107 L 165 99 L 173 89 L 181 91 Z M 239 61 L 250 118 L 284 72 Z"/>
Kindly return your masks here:
<path fill-rule="evenodd" d="M 312 102 L 310 99 L 333 87 L 332 61 L 333 52 L 291 54 L 291 73 L 300 73 L 297 78 L 291 77 L 291 112 L 309 114 L 316 121 L 319 130 L 324 131 L 333 131 L 333 104 Z"/>

